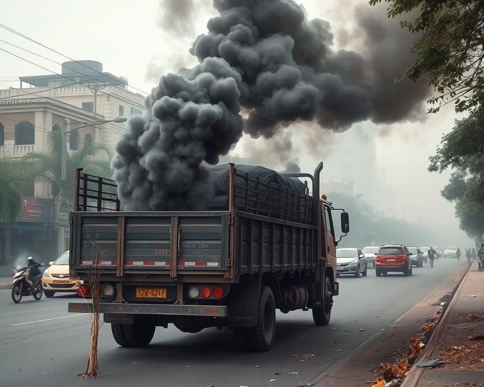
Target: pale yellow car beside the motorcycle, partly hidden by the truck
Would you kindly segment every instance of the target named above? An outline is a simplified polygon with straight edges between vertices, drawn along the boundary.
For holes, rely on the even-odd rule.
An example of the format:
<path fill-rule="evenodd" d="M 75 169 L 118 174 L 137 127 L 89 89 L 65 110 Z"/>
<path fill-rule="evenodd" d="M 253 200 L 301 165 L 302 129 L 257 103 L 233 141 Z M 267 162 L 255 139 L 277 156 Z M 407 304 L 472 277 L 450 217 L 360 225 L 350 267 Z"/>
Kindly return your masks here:
<path fill-rule="evenodd" d="M 69 251 L 61 254 L 42 275 L 42 289 L 45 297 L 53 297 L 56 292 L 76 293 L 79 285 L 73 281 L 69 271 Z"/>

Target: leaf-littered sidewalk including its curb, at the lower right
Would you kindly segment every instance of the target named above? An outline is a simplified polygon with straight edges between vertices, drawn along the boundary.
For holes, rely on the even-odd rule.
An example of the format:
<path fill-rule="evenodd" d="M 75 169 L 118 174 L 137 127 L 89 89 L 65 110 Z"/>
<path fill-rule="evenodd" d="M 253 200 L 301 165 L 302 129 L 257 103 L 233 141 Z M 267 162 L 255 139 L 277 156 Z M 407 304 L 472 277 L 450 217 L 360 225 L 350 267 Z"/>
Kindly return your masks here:
<path fill-rule="evenodd" d="M 484 387 L 484 340 L 471 340 L 480 335 L 484 335 L 484 272 L 474 261 L 402 387 Z M 446 365 L 417 367 L 430 359 L 442 359 Z"/>

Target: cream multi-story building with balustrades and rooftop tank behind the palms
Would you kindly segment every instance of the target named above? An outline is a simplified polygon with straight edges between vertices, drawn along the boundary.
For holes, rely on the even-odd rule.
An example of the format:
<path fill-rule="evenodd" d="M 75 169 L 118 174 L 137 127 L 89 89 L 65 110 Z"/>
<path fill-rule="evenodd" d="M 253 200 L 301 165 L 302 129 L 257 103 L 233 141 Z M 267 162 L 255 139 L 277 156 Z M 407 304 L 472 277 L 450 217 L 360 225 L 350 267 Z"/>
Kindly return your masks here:
<path fill-rule="evenodd" d="M 144 109 L 142 95 L 127 90 L 125 79 L 103 73 L 95 61 L 66 62 L 61 75 L 19 79 L 20 89 L 0 90 L 0 157 L 46 152 L 49 133 L 62 131 L 64 125 L 67 152 L 79 150 L 86 141 L 113 151 L 126 123 L 88 123 L 142 114 Z M 24 183 L 19 218 L 0 223 L 0 266 L 26 254 L 52 261 L 68 246 L 67 216 L 61 208 L 70 198 L 62 201 L 47 180 Z"/>

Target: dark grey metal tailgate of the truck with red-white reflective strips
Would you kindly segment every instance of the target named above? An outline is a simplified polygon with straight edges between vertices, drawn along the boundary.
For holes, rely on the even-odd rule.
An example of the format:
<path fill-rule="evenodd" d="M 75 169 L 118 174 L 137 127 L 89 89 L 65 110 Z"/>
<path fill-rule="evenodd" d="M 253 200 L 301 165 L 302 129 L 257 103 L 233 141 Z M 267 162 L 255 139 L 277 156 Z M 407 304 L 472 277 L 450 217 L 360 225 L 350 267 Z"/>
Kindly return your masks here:
<path fill-rule="evenodd" d="M 228 212 L 77 212 L 72 216 L 71 267 L 98 263 L 104 273 L 224 272 Z"/>

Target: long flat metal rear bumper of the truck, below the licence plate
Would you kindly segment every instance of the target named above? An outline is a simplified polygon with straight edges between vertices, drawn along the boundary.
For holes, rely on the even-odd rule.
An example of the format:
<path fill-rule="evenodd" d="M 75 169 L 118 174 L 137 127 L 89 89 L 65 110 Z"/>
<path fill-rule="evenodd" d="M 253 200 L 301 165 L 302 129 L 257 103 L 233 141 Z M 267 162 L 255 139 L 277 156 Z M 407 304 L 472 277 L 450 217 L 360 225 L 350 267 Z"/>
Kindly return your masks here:
<path fill-rule="evenodd" d="M 100 304 L 101 313 L 126 314 L 166 314 L 174 316 L 209 316 L 226 317 L 227 306 L 220 305 L 156 305 L 156 304 Z M 92 304 L 85 302 L 70 302 L 69 312 L 92 313 Z"/>

